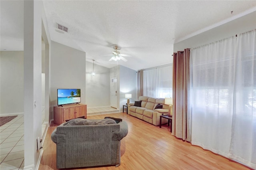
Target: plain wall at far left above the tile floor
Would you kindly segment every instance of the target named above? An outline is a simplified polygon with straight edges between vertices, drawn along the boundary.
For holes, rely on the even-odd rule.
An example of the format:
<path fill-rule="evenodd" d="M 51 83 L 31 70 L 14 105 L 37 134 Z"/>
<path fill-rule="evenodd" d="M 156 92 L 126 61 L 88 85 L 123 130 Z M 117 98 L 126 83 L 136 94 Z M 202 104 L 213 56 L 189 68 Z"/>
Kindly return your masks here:
<path fill-rule="evenodd" d="M 23 113 L 23 51 L 0 52 L 0 114 Z"/>

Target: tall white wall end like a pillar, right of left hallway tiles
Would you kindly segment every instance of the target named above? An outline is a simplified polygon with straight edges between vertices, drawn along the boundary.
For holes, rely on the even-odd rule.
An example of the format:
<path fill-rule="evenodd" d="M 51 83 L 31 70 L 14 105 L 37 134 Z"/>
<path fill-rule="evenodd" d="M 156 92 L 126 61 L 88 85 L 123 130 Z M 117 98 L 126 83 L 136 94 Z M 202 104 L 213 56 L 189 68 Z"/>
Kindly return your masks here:
<path fill-rule="evenodd" d="M 24 1 L 24 169 L 35 169 L 42 150 L 42 1 Z"/>

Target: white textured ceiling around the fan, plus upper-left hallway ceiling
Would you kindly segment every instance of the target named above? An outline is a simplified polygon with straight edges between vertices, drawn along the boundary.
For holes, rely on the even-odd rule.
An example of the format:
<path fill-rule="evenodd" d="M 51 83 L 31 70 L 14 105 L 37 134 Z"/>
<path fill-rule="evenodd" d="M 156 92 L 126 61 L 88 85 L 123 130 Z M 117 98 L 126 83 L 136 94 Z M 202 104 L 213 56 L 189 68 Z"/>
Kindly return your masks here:
<path fill-rule="evenodd" d="M 87 1 L 44 0 L 50 39 L 86 52 L 86 61 L 113 67 L 118 44 L 139 70 L 172 63 L 173 44 L 256 11 L 256 1 Z M 233 11 L 233 12 L 231 12 Z M 23 1 L 0 1 L 1 51 L 23 50 Z M 68 28 L 60 32 L 56 23 Z M 58 30 L 58 31 L 56 31 Z M 54 56 L 52 56 L 54 57 Z"/>

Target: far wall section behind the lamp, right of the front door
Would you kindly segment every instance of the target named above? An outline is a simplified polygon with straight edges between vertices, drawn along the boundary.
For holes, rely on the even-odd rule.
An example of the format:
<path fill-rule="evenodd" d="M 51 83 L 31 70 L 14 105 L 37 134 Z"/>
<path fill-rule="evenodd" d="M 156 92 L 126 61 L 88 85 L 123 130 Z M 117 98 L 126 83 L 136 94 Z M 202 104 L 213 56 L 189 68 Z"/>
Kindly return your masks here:
<path fill-rule="evenodd" d="M 119 110 L 122 111 L 123 105 L 127 103 L 125 94 L 132 94 L 130 103 L 136 99 L 137 73 L 133 69 L 129 69 L 122 65 L 119 66 Z"/>

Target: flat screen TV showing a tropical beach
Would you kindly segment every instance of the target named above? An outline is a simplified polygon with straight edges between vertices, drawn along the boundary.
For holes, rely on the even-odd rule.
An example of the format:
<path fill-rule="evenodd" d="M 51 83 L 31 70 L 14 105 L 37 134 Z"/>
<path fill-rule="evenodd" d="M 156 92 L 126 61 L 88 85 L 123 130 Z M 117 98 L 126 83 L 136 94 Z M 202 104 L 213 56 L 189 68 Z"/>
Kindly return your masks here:
<path fill-rule="evenodd" d="M 57 89 L 58 106 L 80 103 L 81 89 Z"/>

